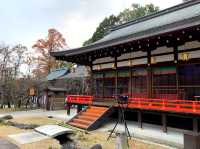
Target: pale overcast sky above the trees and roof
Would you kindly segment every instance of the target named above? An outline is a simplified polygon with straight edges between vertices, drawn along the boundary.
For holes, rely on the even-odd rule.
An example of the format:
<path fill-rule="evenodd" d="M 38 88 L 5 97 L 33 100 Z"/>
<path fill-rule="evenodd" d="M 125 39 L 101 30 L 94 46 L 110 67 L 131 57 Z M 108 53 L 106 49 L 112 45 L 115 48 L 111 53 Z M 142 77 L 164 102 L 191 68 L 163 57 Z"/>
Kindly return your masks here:
<path fill-rule="evenodd" d="M 27 47 L 56 28 L 70 48 L 79 47 L 91 37 L 104 17 L 118 14 L 132 3 L 153 3 L 160 9 L 182 0 L 2 0 L 0 42 Z"/>

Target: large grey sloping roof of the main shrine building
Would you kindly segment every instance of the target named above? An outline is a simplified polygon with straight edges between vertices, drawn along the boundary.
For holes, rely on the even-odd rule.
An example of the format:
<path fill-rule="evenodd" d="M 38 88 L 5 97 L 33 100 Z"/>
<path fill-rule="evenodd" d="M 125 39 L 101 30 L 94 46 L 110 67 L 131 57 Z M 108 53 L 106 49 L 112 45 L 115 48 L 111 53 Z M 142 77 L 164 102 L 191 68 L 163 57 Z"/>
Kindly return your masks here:
<path fill-rule="evenodd" d="M 59 59 L 200 25 L 200 0 L 185 2 L 114 27 L 103 39 L 88 46 L 52 52 Z"/>

